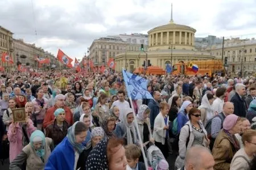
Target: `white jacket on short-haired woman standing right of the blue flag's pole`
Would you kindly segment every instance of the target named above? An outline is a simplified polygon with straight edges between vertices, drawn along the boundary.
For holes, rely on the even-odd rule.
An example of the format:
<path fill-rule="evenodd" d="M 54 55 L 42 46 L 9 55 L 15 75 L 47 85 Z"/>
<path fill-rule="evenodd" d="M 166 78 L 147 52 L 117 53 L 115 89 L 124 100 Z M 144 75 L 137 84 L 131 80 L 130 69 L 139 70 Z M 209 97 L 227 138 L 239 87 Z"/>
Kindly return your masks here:
<path fill-rule="evenodd" d="M 168 125 L 169 117 L 166 117 Z M 164 126 L 166 126 L 166 124 L 164 122 L 163 114 L 160 112 L 158 116 L 155 117 L 153 138 L 155 139 L 156 142 L 162 143 L 162 145 L 164 145 L 166 138 L 166 130 L 163 129 Z"/>

